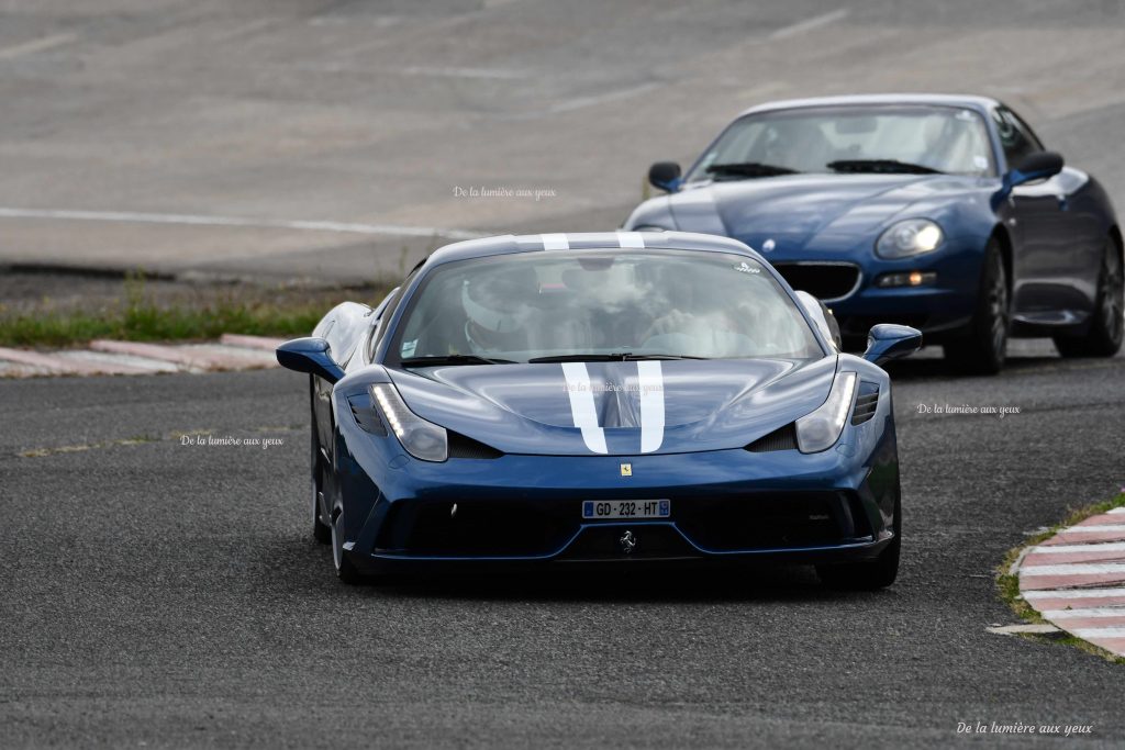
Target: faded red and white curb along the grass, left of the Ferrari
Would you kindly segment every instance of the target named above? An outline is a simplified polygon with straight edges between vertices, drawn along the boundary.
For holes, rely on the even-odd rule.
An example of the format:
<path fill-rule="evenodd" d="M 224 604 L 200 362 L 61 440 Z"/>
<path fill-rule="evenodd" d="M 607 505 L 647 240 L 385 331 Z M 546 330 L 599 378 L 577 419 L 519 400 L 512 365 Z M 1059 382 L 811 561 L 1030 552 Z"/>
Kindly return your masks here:
<path fill-rule="evenodd" d="M 87 349 L 61 352 L 0 346 L 0 377 L 255 370 L 278 365 L 273 350 L 284 341 L 227 333 L 217 342 L 206 344 L 97 340 L 91 341 Z"/>

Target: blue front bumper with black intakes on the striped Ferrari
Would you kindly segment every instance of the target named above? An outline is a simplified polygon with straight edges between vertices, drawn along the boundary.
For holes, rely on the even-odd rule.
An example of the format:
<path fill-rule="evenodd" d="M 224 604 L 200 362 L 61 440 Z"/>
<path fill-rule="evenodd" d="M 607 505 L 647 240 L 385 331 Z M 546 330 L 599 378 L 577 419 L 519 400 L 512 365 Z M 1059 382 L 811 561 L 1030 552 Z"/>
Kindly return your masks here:
<path fill-rule="evenodd" d="M 346 553 L 371 572 L 443 562 L 867 559 L 894 533 L 893 427 L 878 439 L 873 430 L 847 432 L 862 434 L 813 455 L 727 450 L 412 461 L 379 484 L 345 482 L 353 530 Z M 376 499 L 357 501 L 358 493 Z M 584 501 L 605 499 L 666 499 L 670 515 L 583 518 Z"/>

